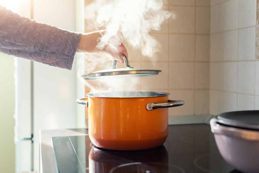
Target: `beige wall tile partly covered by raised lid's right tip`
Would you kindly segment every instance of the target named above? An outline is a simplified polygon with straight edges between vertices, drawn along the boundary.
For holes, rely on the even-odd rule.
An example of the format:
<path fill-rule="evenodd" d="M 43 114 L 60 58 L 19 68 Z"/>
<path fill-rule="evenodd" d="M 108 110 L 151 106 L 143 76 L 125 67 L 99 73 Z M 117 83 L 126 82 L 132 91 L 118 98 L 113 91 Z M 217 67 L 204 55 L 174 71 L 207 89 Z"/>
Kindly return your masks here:
<path fill-rule="evenodd" d="M 142 63 L 143 69 L 162 70 L 158 75 L 142 78 L 142 89 L 168 89 L 168 63 Z"/>

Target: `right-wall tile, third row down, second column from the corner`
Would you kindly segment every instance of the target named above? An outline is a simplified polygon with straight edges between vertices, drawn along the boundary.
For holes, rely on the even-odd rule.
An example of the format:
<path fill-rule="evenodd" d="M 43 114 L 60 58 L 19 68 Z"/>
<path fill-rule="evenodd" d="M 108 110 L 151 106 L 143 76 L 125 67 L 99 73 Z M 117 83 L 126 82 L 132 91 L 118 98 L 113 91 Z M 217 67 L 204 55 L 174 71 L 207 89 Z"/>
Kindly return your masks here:
<path fill-rule="evenodd" d="M 238 63 L 223 63 L 223 90 L 237 92 L 238 88 Z"/>

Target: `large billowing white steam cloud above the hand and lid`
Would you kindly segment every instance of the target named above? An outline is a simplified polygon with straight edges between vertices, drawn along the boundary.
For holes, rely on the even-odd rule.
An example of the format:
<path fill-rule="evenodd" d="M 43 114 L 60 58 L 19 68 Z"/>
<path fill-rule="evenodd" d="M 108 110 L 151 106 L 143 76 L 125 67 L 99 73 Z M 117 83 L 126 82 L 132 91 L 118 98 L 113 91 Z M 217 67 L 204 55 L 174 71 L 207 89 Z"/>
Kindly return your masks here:
<path fill-rule="evenodd" d="M 156 40 L 149 32 L 160 30 L 164 20 L 175 17 L 162 6 L 162 0 L 95 0 L 85 8 L 86 29 L 105 27 L 102 42 L 117 36 L 143 56 L 152 57 Z"/>

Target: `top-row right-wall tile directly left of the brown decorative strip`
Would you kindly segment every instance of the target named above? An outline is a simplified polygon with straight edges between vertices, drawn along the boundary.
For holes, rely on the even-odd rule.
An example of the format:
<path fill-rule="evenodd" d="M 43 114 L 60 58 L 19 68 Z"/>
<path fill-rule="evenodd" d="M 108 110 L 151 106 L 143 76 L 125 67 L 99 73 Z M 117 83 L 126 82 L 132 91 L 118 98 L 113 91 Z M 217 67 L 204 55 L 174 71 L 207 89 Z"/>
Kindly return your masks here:
<path fill-rule="evenodd" d="M 256 0 L 239 0 L 239 28 L 255 26 Z"/>

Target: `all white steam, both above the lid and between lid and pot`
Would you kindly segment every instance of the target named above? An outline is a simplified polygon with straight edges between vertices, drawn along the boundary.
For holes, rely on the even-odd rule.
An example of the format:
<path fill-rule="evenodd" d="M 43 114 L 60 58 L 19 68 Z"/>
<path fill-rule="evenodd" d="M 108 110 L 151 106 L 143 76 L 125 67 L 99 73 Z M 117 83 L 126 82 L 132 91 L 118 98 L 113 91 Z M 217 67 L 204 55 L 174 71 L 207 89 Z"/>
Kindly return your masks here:
<path fill-rule="evenodd" d="M 112 37 L 117 37 L 143 56 L 152 58 L 157 52 L 156 39 L 150 36 L 152 30 L 160 30 L 164 20 L 175 17 L 173 12 L 162 9 L 162 0 L 95 0 L 85 7 L 85 30 L 106 32 L 100 38 L 99 48 Z M 117 45 L 119 43 L 112 43 Z M 130 55 L 129 55 L 130 56 Z M 130 62 L 130 57 L 128 57 Z M 85 55 L 85 67 L 78 71 L 78 76 L 92 71 L 111 68 L 112 61 L 104 54 Z M 79 61 L 79 63 L 82 63 Z M 81 64 L 82 65 L 82 64 Z M 90 92 L 137 91 L 141 89 L 141 78 L 109 78 L 84 80 L 79 77 Z"/>

